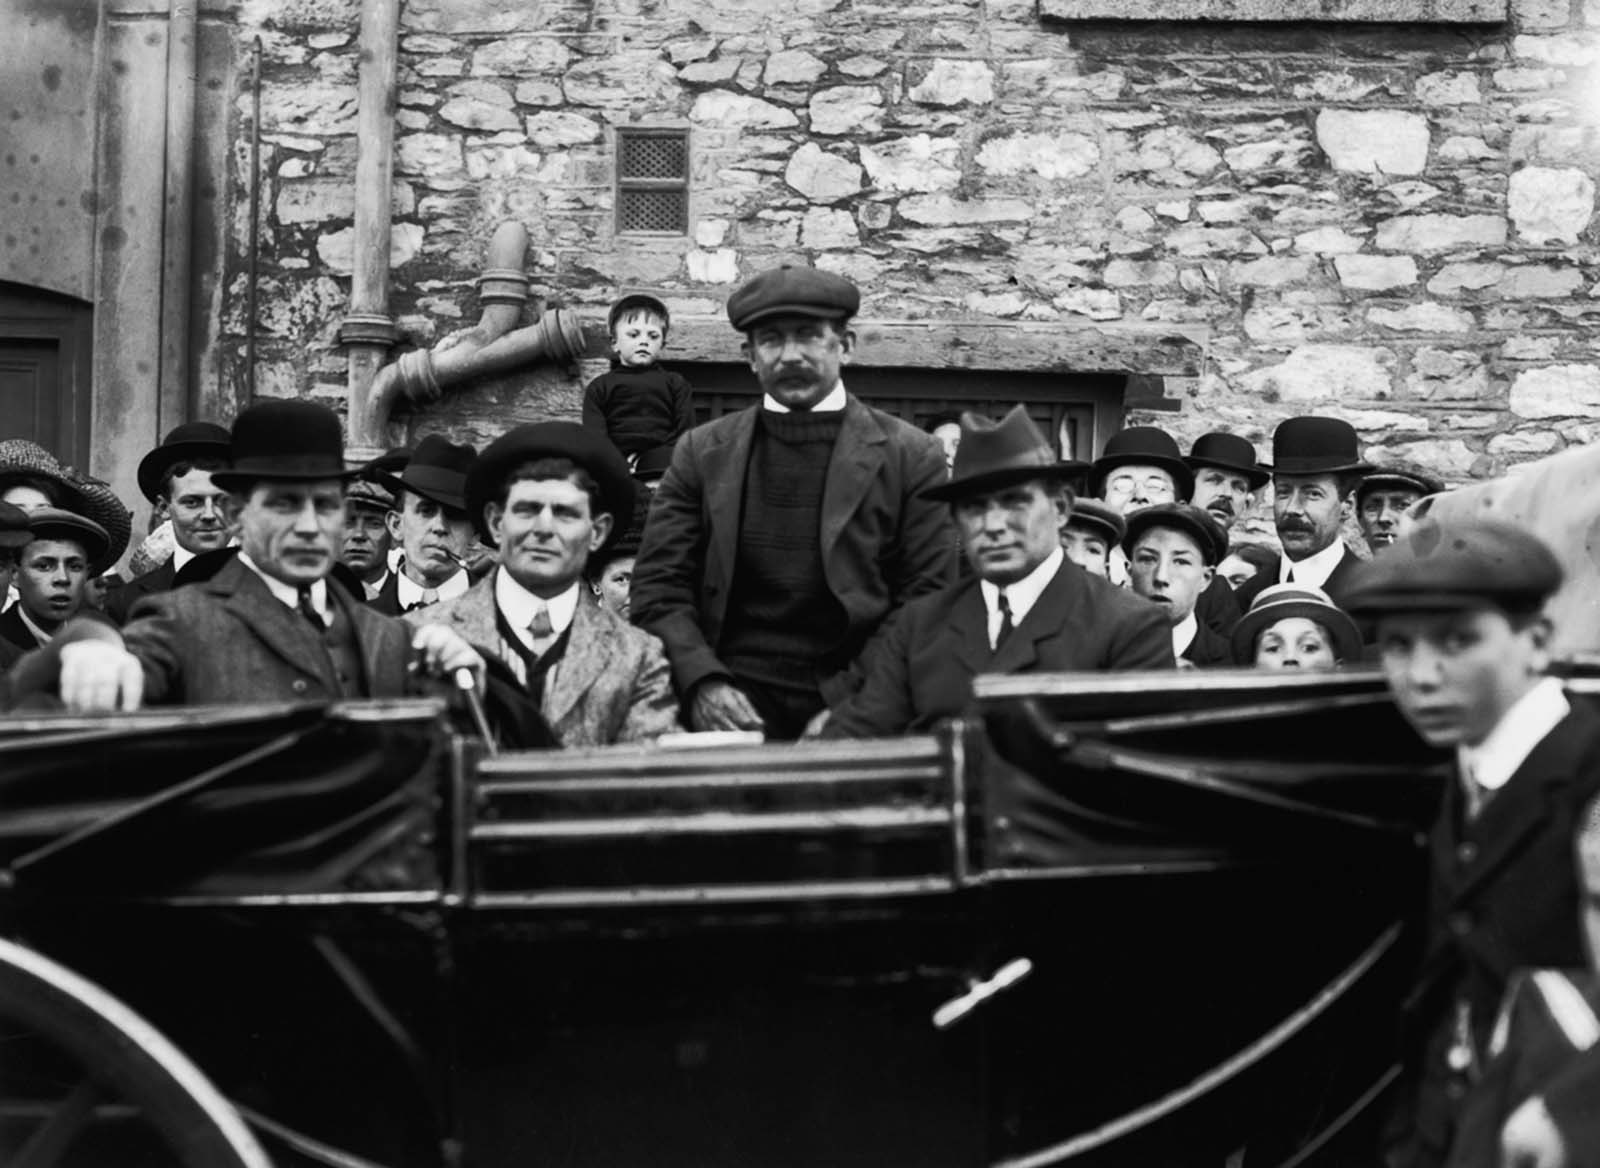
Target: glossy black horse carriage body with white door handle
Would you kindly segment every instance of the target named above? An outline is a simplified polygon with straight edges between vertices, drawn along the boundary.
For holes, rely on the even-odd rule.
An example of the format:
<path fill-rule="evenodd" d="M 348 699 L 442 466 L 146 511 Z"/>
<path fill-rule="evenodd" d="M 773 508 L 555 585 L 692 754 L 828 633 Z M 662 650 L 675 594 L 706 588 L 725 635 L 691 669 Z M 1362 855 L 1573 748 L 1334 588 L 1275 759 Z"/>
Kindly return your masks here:
<path fill-rule="evenodd" d="M 426 704 L 6 730 L 10 933 L 382 1163 L 1282 1163 L 1354 1115 L 1331 1152 L 1442 778 L 1371 674 L 496 758 Z"/>

